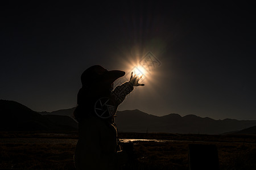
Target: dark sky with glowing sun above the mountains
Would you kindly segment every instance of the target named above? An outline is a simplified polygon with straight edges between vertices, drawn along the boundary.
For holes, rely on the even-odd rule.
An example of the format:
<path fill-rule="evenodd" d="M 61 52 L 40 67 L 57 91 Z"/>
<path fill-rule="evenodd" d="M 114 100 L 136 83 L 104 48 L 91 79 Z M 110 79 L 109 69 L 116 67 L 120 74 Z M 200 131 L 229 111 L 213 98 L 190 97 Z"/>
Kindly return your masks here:
<path fill-rule="evenodd" d="M 0 11 L 1 99 L 75 107 L 86 68 L 128 74 L 151 52 L 160 66 L 119 110 L 256 120 L 253 4 L 10 1 Z"/>

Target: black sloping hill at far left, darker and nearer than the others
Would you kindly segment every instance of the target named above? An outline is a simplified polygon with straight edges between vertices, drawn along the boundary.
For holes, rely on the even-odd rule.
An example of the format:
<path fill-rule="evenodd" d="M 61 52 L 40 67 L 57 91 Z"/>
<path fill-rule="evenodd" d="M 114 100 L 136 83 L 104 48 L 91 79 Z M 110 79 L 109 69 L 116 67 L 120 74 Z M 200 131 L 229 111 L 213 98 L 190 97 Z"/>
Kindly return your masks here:
<path fill-rule="evenodd" d="M 0 100 L 0 115 L 0 131 L 77 130 L 76 122 L 67 116 L 42 116 L 16 101 Z"/>

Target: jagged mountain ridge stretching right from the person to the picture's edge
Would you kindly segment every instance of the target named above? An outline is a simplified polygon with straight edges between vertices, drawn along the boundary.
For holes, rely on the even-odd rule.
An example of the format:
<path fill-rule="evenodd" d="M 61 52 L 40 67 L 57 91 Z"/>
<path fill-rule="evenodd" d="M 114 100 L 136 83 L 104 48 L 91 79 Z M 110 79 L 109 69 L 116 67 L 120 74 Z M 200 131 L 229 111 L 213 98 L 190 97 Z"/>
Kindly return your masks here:
<path fill-rule="evenodd" d="M 226 131 L 236 131 L 256 125 L 254 120 L 213 120 L 209 117 L 201 118 L 193 114 L 184 117 L 179 114 L 158 117 L 139 110 L 119 111 L 115 120 L 119 131 L 141 133 L 222 134 Z"/>

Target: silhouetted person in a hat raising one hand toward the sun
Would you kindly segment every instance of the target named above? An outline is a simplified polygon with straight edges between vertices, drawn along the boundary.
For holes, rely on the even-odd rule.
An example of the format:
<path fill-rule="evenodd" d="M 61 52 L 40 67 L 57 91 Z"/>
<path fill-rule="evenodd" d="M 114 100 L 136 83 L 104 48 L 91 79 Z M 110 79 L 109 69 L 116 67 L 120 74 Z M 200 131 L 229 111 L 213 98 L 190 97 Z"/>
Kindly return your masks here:
<path fill-rule="evenodd" d="M 142 76 L 131 73 L 129 82 L 113 90 L 113 82 L 123 75 L 124 71 L 108 71 L 98 65 L 82 73 L 82 88 L 74 112 L 79 122 L 79 141 L 74 156 L 76 169 L 119 169 L 126 164 L 129 155 L 118 145 L 114 115 L 134 86 L 144 84 L 138 83 Z"/>

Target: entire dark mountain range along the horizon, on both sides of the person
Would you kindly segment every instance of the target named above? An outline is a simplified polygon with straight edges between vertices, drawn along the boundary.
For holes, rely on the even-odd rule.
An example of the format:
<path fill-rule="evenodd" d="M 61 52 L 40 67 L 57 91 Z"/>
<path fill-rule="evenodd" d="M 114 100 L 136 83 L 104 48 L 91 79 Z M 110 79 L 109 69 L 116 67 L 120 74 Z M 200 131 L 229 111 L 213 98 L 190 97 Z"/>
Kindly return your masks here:
<path fill-rule="evenodd" d="M 76 130 L 77 122 L 73 120 L 75 108 L 55 112 L 34 112 L 15 101 L 0 100 L 0 130 Z M 43 115 L 41 115 L 43 114 Z M 239 121 L 234 119 L 213 120 L 193 114 L 181 117 L 179 114 L 154 116 L 141 112 L 118 111 L 115 118 L 118 131 L 139 133 L 181 133 L 181 134 L 223 134 L 242 129 L 254 131 L 256 121 Z M 251 128 L 250 128 L 251 127 Z M 253 134 L 253 132 L 251 132 Z"/>

